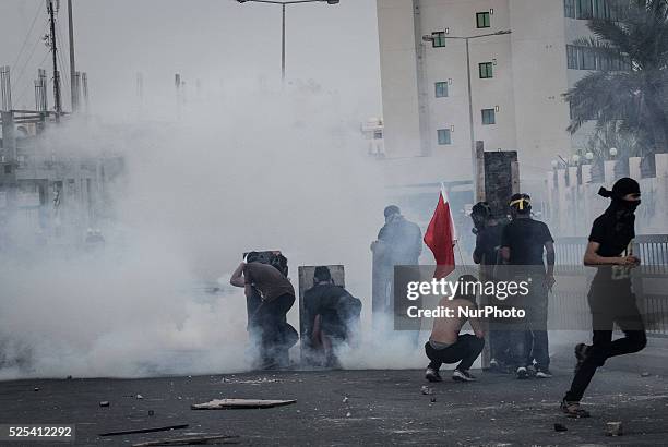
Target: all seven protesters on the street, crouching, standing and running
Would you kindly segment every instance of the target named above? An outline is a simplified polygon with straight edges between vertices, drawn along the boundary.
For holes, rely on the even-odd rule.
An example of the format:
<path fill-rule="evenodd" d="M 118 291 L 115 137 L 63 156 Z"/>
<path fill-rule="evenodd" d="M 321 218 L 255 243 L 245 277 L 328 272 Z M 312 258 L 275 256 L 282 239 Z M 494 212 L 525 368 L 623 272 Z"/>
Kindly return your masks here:
<path fill-rule="evenodd" d="M 584 264 L 598 267 L 598 271 L 587 295 L 593 321 L 592 345 L 575 347 L 575 375 L 561 402 L 561 410 L 572 416 L 588 416 L 587 411 L 580 407 L 580 400 L 598 366 L 610 357 L 637 352 L 646 343 L 631 280 L 628 274 L 623 274 L 640 265 L 637 257 L 625 252 L 635 237 L 634 212 L 640 205 L 640 185 L 635 180 L 624 178 L 617 181 L 611 191 L 601 189 L 599 194 L 611 198 L 611 204 L 594 221 L 584 255 Z M 425 343 L 429 359 L 425 377 L 430 382 L 442 380 L 439 370 L 443 363 L 458 363 L 453 371 L 454 380 L 476 380 L 469 369 L 482 352 L 486 337 L 491 370 L 512 373 L 518 379 L 552 376 L 547 323 L 548 295 L 556 282 L 554 241 L 548 226 L 533 218 L 528 194 L 514 194 L 508 205 L 509 213 L 502 215 L 494 214 L 485 202 L 473 207 L 476 233 L 473 261 L 480 265 L 480 278 L 464 275 L 458 280 L 499 280 L 499 268 L 505 267 L 503 275 L 506 280 L 530 285 L 521 302 L 526 316 L 511 322 L 491 318 L 485 322 L 489 334 L 485 334 L 486 325 L 479 318 L 434 318 L 431 335 Z M 385 225 L 371 250 L 374 259 L 384 259 L 386 267 L 384 274 L 374 275 L 374 282 L 382 282 L 383 293 L 391 295 L 393 266 L 417 265 L 422 238 L 420 228 L 408 221 L 397 206 L 386 207 L 384 217 Z M 289 364 L 288 350 L 298 340 L 297 331 L 286 318 L 295 303 L 295 289 L 287 278 L 287 265 L 282 255 L 269 259 L 261 257 L 260 253 L 248 253 L 230 282 L 246 290 L 249 331 L 259 350 L 258 367 L 285 367 Z M 386 285 L 390 285 L 389 289 Z M 377 287 L 379 285 L 374 283 Z M 355 345 L 359 335 L 361 301 L 335 285 L 332 273 L 324 266 L 314 269 L 313 285 L 305 292 L 303 300 L 302 349 L 319 353 L 310 358 L 317 359 L 318 365 L 339 367 L 337 348 L 343 343 Z M 494 295 L 460 292 L 454 297 L 443 297 L 439 305 L 477 309 L 480 300 L 505 304 Z M 473 334 L 462 334 L 467 321 Z M 613 324 L 624 331 L 624 337 L 615 341 Z"/>

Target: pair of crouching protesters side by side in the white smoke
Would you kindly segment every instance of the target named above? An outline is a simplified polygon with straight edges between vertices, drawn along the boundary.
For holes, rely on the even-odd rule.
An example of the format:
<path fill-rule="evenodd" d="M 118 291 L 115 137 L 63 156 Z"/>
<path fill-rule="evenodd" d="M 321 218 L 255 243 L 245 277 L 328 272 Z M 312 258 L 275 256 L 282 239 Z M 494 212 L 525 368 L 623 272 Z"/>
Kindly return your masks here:
<path fill-rule="evenodd" d="M 287 322 L 295 304 L 295 288 L 288 279 L 287 259 L 281 253 L 250 252 L 232 273 L 230 283 L 244 288 L 248 331 L 259 370 L 289 366 L 289 349 L 299 335 Z M 342 345 L 355 345 L 359 333 L 361 301 L 336 286 L 326 266 L 313 271 L 313 286 L 305 292 L 301 347 L 311 352 L 313 366 L 339 367 Z"/>

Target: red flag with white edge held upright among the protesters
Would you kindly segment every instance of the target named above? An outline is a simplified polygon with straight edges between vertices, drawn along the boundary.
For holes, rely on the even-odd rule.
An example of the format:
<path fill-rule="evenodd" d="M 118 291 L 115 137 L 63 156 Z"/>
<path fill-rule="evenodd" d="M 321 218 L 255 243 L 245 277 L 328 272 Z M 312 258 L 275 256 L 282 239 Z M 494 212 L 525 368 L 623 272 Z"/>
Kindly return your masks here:
<path fill-rule="evenodd" d="M 439 204 L 437 205 L 427 232 L 425 233 L 425 244 L 433 253 L 437 269 L 433 277 L 437 279 L 445 278 L 454 270 L 454 245 L 456 243 L 456 231 L 450 210 L 448 194 L 441 188 Z"/>

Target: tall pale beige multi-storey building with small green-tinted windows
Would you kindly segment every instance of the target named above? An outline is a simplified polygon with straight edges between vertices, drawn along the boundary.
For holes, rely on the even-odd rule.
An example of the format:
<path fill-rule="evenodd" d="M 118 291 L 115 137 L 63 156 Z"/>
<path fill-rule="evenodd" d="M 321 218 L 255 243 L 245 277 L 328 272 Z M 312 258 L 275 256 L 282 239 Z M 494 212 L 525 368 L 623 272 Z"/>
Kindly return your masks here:
<path fill-rule="evenodd" d="M 612 2 L 378 0 L 389 182 L 470 182 L 470 104 L 474 140 L 517 150 L 522 188 L 541 190 L 586 143 L 591 126 L 566 131 L 563 94 L 603 61 L 572 43 Z"/>

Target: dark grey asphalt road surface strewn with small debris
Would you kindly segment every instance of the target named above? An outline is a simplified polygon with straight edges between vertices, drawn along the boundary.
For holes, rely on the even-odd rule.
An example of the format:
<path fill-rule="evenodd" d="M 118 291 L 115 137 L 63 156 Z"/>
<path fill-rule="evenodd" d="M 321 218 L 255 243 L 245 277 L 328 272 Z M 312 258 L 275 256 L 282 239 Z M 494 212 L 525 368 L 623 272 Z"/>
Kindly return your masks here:
<path fill-rule="evenodd" d="M 0 383 L 0 423 L 74 423 L 77 445 L 109 446 L 193 434 L 238 435 L 240 445 L 668 444 L 666 375 L 604 367 L 583 401 L 593 418 L 573 420 L 558 411 L 570 383 L 569 370 L 558 366 L 551 379 L 527 380 L 478 371 L 479 382 L 473 384 L 452 382 L 448 371 L 439 384 L 427 384 L 422 371 L 13 380 Z M 433 394 L 424 395 L 424 385 Z M 257 410 L 190 409 L 215 398 L 297 399 L 297 403 Z M 109 401 L 109 407 L 100 407 L 100 401 Z M 624 435 L 607 436 L 609 421 L 621 421 Z M 568 431 L 556 432 L 556 423 Z M 176 424 L 189 427 L 99 436 Z"/>

